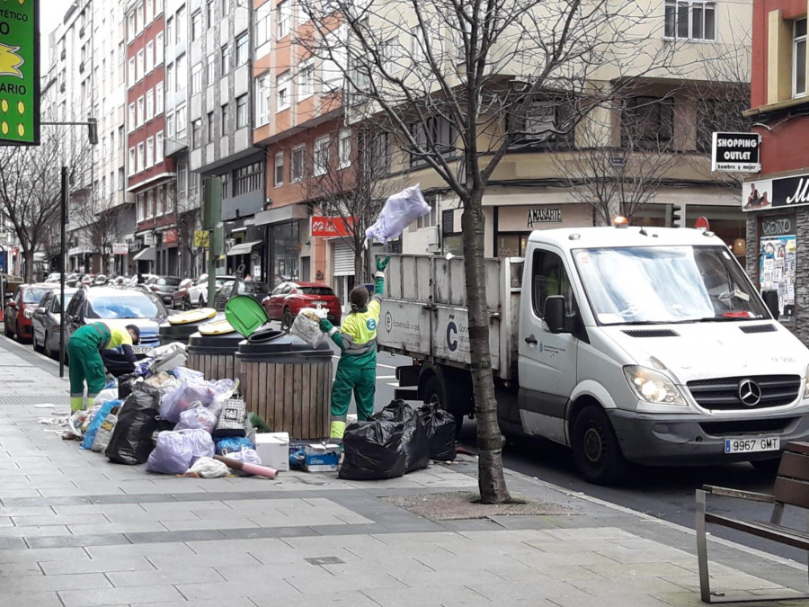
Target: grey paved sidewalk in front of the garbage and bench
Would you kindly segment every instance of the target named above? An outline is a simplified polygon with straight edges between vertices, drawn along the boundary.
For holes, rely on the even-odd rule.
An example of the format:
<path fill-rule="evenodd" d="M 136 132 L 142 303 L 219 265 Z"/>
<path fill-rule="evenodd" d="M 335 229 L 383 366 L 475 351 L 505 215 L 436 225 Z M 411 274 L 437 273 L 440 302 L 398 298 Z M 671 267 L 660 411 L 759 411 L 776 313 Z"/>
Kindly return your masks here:
<path fill-rule="evenodd" d="M 49 369 L 0 344 L 0 605 L 701 604 L 693 533 L 645 514 L 513 472 L 546 514 L 434 522 L 385 499 L 474 492 L 470 457 L 377 482 L 112 464 L 39 422 L 67 411 Z M 710 555 L 717 592 L 806 583 L 727 541 Z"/>

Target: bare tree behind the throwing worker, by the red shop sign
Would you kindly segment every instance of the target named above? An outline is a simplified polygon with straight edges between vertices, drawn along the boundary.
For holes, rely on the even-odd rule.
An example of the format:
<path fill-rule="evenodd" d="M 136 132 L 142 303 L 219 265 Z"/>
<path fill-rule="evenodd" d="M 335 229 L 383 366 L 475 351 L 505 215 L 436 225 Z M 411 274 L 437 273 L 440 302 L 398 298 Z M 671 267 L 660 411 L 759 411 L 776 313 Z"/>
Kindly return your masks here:
<path fill-rule="evenodd" d="M 339 219 L 345 226 L 347 235 L 341 239 L 354 254 L 354 276 L 362 282 L 368 278 L 365 230 L 401 180 L 390 177 L 389 133 L 376 125 L 360 124 L 352 129 L 351 142 L 341 145 L 340 130 L 328 139 L 328 147 L 315 149 L 315 171 L 302 178 L 307 200 L 319 204 L 325 217 Z M 293 159 L 293 172 L 298 169 L 294 163 Z"/>

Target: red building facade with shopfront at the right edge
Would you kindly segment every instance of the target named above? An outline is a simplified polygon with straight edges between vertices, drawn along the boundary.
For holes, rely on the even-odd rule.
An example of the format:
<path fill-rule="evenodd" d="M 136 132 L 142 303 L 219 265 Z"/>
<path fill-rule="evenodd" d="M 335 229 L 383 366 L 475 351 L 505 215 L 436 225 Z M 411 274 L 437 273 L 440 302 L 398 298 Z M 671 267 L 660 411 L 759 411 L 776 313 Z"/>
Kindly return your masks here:
<path fill-rule="evenodd" d="M 752 129 L 760 135 L 759 174 L 742 183 L 747 271 L 778 298 L 779 320 L 809 344 L 809 95 L 807 6 L 762 0 L 753 9 Z"/>

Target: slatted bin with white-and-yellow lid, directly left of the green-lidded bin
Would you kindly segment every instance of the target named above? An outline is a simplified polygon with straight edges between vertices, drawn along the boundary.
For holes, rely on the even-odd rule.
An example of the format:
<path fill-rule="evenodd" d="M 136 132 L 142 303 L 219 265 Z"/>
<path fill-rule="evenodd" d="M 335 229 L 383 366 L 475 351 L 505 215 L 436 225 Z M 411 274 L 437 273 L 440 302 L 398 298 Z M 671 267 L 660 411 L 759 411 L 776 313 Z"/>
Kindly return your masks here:
<path fill-rule="evenodd" d="M 188 338 L 186 366 L 204 373 L 205 379 L 236 379 L 236 350 L 244 337 L 227 320 L 198 329 Z"/>

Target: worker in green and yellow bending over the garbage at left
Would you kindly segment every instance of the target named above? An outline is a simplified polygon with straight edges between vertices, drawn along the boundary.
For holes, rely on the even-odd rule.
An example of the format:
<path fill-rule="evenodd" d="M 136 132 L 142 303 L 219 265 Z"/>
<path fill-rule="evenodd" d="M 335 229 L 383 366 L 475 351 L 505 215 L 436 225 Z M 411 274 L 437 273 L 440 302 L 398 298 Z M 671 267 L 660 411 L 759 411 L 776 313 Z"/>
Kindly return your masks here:
<path fill-rule="evenodd" d="M 132 345 L 140 343 L 140 329 L 127 325 L 125 329 L 93 323 L 76 329 L 67 342 L 70 370 L 70 410 L 84 408 L 84 382 L 87 382 L 87 399 L 92 400 L 104 388 L 107 374 L 101 351 L 122 346 L 127 361 L 135 364 Z"/>

